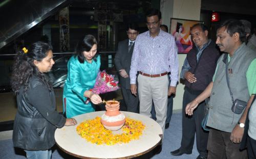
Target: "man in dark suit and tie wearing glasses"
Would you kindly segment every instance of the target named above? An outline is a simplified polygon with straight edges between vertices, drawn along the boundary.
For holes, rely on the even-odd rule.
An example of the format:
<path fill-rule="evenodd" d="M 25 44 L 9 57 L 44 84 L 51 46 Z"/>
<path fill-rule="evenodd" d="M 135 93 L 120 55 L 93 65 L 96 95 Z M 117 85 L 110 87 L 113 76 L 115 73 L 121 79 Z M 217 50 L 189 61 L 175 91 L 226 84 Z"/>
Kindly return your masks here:
<path fill-rule="evenodd" d="M 124 102 L 127 106 L 128 112 L 139 113 L 139 97 L 131 93 L 130 85 L 130 67 L 133 55 L 134 43 L 137 35 L 139 34 L 138 25 L 131 23 L 127 27 L 128 39 L 118 43 L 118 49 L 115 56 L 116 70 L 120 74 L 120 84 Z"/>

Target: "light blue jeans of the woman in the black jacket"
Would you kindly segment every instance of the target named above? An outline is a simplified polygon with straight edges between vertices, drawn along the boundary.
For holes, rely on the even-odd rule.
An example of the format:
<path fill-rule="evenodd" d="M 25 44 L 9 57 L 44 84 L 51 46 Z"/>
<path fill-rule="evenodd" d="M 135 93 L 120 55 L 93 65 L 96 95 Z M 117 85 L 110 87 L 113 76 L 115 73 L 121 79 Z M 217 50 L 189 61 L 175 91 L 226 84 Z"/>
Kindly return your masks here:
<path fill-rule="evenodd" d="M 24 150 L 27 154 L 28 159 L 51 159 L 52 157 L 52 150 L 39 150 L 39 151 L 29 151 Z"/>

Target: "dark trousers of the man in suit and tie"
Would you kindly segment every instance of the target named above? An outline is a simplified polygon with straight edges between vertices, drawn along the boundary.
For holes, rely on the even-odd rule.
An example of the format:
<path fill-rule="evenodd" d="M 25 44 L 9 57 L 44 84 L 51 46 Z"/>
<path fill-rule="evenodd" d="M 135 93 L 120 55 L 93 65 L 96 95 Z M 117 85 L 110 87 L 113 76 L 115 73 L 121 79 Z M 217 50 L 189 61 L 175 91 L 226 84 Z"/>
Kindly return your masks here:
<path fill-rule="evenodd" d="M 122 89 L 123 100 L 127 107 L 127 112 L 139 113 L 139 93 L 133 95 L 130 89 Z"/>

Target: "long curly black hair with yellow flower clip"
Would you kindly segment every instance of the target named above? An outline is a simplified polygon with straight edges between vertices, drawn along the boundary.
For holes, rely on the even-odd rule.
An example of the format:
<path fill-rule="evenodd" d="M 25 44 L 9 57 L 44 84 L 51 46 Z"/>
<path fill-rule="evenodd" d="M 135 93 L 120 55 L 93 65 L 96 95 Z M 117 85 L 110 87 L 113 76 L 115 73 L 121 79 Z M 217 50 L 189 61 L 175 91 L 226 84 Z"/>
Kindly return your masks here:
<path fill-rule="evenodd" d="M 34 60 L 42 61 L 42 59 L 47 57 L 50 50 L 52 50 L 52 46 L 42 41 L 33 43 L 27 51 L 23 49 L 16 50 L 17 55 L 14 59 L 11 76 L 11 86 L 15 95 L 19 93 L 20 87 L 22 86 L 24 86 L 24 91 L 28 90 L 32 75 L 40 78 L 46 84 L 49 91 L 51 91 L 51 82 L 34 65 Z"/>

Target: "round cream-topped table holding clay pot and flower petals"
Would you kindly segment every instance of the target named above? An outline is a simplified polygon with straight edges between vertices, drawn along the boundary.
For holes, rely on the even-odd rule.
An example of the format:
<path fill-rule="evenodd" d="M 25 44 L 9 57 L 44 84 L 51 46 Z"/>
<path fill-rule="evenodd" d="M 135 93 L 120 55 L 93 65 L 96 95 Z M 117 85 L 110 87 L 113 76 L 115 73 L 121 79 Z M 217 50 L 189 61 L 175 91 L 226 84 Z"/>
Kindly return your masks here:
<path fill-rule="evenodd" d="M 74 118 L 79 125 L 84 120 L 101 117 L 103 113 L 105 111 L 92 112 Z M 81 138 L 76 132 L 77 125 L 75 125 L 57 128 L 55 131 L 56 143 L 66 153 L 79 158 L 133 158 L 151 151 L 161 142 L 163 131 L 155 120 L 137 113 L 122 113 L 127 118 L 140 120 L 146 126 L 139 140 L 122 145 L 96 145 Z"/>

